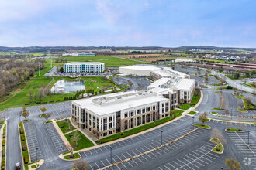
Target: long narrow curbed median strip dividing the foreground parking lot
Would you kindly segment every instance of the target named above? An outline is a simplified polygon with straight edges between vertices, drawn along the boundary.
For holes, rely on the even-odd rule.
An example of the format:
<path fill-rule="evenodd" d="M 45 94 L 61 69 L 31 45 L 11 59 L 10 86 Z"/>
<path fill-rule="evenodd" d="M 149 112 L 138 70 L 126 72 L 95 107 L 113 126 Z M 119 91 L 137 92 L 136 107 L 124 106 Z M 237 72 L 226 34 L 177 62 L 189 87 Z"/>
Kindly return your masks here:
<path fill-rule="evenodd" d="M 148 154 L 148 153 L 150 153 L 150 152 L 152 152 L 152 151 L 157 151 L 158 149 L 163 148 L 164 146 L 170 145 L 170 144 L 172 144 L 173 142 L 178 141 L 178 140 L 181 139 L 181 138 L 184 138 L 185 136 L 191 134 L 193 131 L 196 131 L 196 130 L 198 130 L 198 129 L 199 129 L 199 127 L 193 129 L 192 131 L 189 131 L 189 132 L 186 133 L 186 134 L 183 134 L 182 136 L 176 138 L 175 140 L 168 141 L 168 143 L 166 143 L 166 144 L 164 144 L 164 145 L 161 145 L 161 146 L 158 146 L 157 148 L 151 149 L 150 151 L 145 151 L 145 152 L 143 152 L 143 153 L 141 153 L 141 154 L 139 154 L 139 155 L 135 155 L 135 156 L 133 156 L 133 157 L 131 157 L 131 158 L 126 158 L 126 159 L 124 159 L 124 160 L 122 160 L 122 161 L 120 161 L 120 162 L 115 162 L 115 163 L 113 163 L 113 164 L 111 164 L 111 165 L 108 165 L 108 166 L 106 166 L 106 167 L 99 168 L 99 169 L 100 169 L 100 170 L 103 170 L 103 169 L 106 169 L 106 168 L 110 168 L 110 167 L 112 167 L 112 166 L 122 164 L 123 162 L 128 162 L 128 161 L 132 160 L 133 158 L 138 158 L 138 157 L 140 157 L 140 156 L 142 156 L 142 155 L 146 155 L 146 154 Z"/>

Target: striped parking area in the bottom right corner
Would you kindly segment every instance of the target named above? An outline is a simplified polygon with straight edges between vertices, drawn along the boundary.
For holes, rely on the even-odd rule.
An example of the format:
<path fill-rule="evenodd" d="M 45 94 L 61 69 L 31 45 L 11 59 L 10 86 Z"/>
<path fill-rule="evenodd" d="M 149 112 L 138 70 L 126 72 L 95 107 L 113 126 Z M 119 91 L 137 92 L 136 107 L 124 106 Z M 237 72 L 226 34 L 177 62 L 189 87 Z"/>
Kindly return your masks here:
<path fill-rule="evenodd" d="M 243 156 L 243 164 L 248 169 L 256 169 L 256 142 L 255 138 L 249 138 L 247 132 L 227 132 L 227 135 L 236 146 L 237 151 Z M 242 163 L 242 162 L 241 162 Z"/>

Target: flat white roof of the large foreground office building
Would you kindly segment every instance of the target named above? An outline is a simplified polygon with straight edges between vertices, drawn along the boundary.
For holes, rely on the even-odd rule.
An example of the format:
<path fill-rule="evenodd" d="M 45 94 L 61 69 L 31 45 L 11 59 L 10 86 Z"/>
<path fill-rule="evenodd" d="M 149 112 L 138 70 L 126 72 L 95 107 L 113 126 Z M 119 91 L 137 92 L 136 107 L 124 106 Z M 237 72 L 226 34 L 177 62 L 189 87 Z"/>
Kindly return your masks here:
<path fill-rule="evenodd" d="M 157 96 L 157 93 L 150 91 L 130 91 L 106 94 L 98 97 L 91 97 L 73 101 L 81 108 L 91 110 L 99 116 L 115 113 L 116 111 L 139 107 L 144 104 L 168 100 Z"/>

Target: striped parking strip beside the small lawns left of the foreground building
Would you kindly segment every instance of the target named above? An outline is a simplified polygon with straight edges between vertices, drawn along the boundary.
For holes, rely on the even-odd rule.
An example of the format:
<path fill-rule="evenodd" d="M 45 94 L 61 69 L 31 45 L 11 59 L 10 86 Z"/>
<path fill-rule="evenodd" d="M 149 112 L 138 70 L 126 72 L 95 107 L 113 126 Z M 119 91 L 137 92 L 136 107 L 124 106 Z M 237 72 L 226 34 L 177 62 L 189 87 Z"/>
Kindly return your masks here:
<path fill-rule="evenodd" d="M 54 128 L 54 124 L 45 124 L 48 134 L 50 135 L 50 139 L 54 143 L 54 148 L 56 149 L 58 154 L 64 153 L 67 151 L 66 145 L 62 141 L 60 135 L 57 133 L 57 130 Z"/>

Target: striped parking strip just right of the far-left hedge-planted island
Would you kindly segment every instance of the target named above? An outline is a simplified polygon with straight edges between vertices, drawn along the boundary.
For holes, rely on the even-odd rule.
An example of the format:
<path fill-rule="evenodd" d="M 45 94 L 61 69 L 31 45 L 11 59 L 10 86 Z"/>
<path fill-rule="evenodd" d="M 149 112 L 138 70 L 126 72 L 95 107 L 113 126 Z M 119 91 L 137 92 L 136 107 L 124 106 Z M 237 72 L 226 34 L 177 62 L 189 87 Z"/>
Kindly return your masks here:
<path fill-rule="evenodd" d="M 26 130 L 26 140 L 29 145 L 29 155 L 31 158 L 31 162 L 35 162 L 36 160 L 43 158 L 43 156 L 42 156 L 40 145 L 36 138 L 36 131 L 33 127 L 33 122 L 32 121 L 24 122 L 24 128 Z"/>

